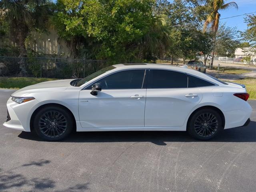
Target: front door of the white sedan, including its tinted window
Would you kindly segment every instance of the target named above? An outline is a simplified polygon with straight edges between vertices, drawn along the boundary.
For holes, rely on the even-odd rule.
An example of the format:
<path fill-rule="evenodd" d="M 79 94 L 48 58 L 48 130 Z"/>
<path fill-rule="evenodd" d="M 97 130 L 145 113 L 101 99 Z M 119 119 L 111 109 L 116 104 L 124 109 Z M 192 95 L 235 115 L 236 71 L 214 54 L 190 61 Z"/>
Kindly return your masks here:
<path fill-rule="evenodd" d="M 90 89 L 79 94 L 79 118 L 86 127 L 144 126 L 146 70 L 123 70 L 110 74 L 94 83 L 102 91 L 94 96 Z"/>

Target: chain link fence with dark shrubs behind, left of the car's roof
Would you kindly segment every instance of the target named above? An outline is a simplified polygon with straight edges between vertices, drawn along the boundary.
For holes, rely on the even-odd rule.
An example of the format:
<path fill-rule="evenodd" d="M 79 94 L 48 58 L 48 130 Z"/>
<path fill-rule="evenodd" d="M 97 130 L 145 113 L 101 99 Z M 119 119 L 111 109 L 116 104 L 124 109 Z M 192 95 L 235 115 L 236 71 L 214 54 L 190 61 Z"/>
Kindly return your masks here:
<path fill-rule="evenodd" d="M 84 78 L 108 66 L 102 60 L 70 58 L 17 58 L 0 56 L 0 76 L 40 78 Z"/>

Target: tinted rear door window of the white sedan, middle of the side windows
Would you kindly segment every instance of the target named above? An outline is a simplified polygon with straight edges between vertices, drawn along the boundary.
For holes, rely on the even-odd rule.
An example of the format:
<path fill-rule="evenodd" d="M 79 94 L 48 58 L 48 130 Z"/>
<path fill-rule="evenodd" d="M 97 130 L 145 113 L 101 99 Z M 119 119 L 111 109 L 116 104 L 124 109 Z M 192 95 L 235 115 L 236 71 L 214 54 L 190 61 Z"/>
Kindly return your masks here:
<path fill-rule="evenodd" d="M 188 77 L 170 70 L 150 70 L 148 88 L 187 88 Z"/>

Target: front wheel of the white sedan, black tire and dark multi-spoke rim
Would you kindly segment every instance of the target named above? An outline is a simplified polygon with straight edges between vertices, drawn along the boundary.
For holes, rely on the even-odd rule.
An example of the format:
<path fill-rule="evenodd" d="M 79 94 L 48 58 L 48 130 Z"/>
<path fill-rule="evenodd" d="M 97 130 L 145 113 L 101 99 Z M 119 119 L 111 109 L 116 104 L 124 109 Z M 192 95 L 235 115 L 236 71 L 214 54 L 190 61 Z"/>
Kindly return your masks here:
<path fill-rule="evenodd" d="M 46 106 L 40 109 L 33 120 L 36 134 L 48 141 L 66 138 L 74 127 L 70 112 L 58 106 Z"/>

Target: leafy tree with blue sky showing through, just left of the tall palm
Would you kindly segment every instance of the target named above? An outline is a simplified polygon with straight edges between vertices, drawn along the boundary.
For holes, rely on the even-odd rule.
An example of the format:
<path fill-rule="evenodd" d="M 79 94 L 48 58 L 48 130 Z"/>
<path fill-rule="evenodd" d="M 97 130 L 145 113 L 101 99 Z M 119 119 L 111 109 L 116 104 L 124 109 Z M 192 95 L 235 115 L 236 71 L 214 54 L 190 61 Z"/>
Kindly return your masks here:
<path fill-rule="evenodd" d="M 175 57 L 183 57 L 185 63 L 186 58 L 194 58 L 198 52 L 208 52 L 211 48 L 210 34 L 200 31 L 200 22 L 208 13 L 202 3 L 204 1 L 174 0 L 168 7 L 161 4 L 160 7 L 170 18 L 172 44 L 167 55 L 171 57 L 171 62 Z"/>

